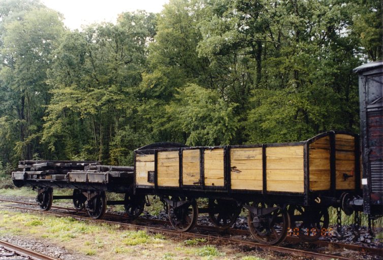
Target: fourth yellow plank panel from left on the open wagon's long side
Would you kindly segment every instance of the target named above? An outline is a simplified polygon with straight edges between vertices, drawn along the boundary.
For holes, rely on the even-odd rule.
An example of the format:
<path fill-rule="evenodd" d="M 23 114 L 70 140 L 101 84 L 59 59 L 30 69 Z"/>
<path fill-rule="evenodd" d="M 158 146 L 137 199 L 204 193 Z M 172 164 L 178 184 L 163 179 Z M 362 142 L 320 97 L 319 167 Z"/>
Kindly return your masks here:
<path fill-rule="evenodd" d="M 224 186 L 224 149 L 204 151 L 206 186 Z"/>

